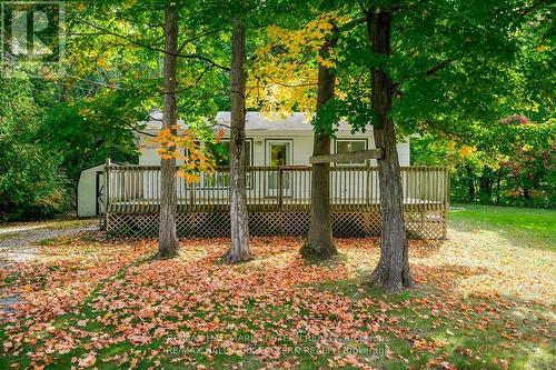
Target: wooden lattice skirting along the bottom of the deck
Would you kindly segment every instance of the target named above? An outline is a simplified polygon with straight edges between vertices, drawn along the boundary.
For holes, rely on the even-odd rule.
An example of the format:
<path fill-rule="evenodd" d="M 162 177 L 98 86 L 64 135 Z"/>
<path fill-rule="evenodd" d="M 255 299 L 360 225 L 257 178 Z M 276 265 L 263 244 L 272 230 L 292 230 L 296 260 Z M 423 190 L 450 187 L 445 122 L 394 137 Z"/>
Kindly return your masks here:
<path fill-rule="evenodd" d="M 108 237 L 146 238 L 158 236 L 158 213 L 109 213 L 106 216 Z M 445 211 L 406 211 L 406 230 L 411 239 L 445 239 Z M 309 230 L 308 212 L 251 212 L 249 231 L 252 236 L 305 237 Z M 230 232 L 228 212 L 179 213 L 180 237 L 227 237 Z M 332 213 L 332 231 L 338 238 L 367 238 L 380 234 L 378 211 Z"/>

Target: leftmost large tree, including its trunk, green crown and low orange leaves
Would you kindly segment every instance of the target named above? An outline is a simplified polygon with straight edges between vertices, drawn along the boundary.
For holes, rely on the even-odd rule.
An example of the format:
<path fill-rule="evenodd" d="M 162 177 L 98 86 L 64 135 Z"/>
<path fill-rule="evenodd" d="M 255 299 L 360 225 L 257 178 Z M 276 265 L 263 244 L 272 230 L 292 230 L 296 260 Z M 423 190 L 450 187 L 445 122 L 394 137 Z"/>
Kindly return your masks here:
<path fill-rule="evenodd" d="M 153 139 L 161 157 L 158 253 L 161 258 L 172 257 L 179 249 L 176 176 L 196 181 L 199 176 L 192 172 L 211 168 L 206 160 L 199 160 L 208 156 L 198 156 L 201 149 L 195 142 L 214 140 L 206 119 L 218 110 L 216 101 L 221 99 L 219 92 L 228 81 L 220 76 L 220 71 L 229 71 L 224 67 L 228 56 L 221 49 L 222 29 L 215 26 L 206 9 L 202 1 L 122 4 L 106 0 L 88 6 L 87 11 L 81 9 L 72 18 L 76 28 L 83 31 L 80 34 L 85 34 L 78 38 L 81 52 L 70 56 L 73 64 L 80 67 L 76 74 L 81 79 L 106 76 L 106 81 L 99 83 L 100 92 L 116 90 L 136 102 L 135 114 L 129 114 L 129 104 L 121 104 L 120 112 L 112 109 L 110 122 L 142 132 L 138 121 L 151 120 L 149 111 L 163 106 L 161 133 Z M 161 57 L 162 77 L 157 72 Z M 96 60 L 100 70 L 88 69 L 91 60 Z M 178 111 L 189 126 L 187 132 L 178 130 Z M 177 160 L 185 162 L 180 171 Z"/>

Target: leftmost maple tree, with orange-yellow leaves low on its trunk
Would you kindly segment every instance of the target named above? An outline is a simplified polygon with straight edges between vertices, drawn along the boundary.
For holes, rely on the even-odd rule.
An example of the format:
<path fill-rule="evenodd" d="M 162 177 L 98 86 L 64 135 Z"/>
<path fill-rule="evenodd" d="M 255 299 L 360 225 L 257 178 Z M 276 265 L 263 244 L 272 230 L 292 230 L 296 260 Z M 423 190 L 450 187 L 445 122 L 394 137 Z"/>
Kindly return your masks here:
<path fill-rule="evenodd" d="M 81 8 L 83 7 L 80 4 Z M 197 53 L 196 43 L 205 41 L 205 37 L 218 34 L 218 29 L 209 29 L 197 33 L 195 26 L 202 27 L 203 20 L 196 19 L 197 10 L 203 10 L 203 4 L 197 4 L 197 8 L 186 11 L 185 4 L 168 1 L 159 2 L 127 2 L 116 4 L 111 1 L 101 2 L 90 6 L 92 16 L 83 17 L 76 16 L 79 26 L 101 31 L 101 36 L 86 37 L 82 43 L 97 51 L 99 44 L 111 46 L 115 40 L 123 41 L 123 47 L 118 42 L 116 48 L 110 48 L 110 52 L 97 54 L 97 66 L 101 68 L 118 70 L 119 79 L 116 82 L 118 89 L 126 89 L 121 86 L 123 82 L 137 83 L 135 80 L 138 77 L 137 70 L 126 68 L 123 71 L 118 69 L 118 62 L 121 62 L 119 54 L 115 51 L 123 50 L 127 59 L 125 63 L 142 63 L 151 66 L 152 60 L 157 60 L 163 56 L 163 78 L 149 78 L 147 76 L 142 89 L 157 89 L 157 82 L 163 84 L 163 89 L 158 90 L 163 98 L 163 118 L 162 118 L 162 133 L 158 137 L 157 142 L 163 144 L 161 148 L 161 187 L 160 187 L 160 252 L 162 258 L 172 257 L 179 249 L 179 242 L 176 231 L 176 210 L 177 210 L 177 196 L 176 196 L 176 176 L 182 174 L 187 180 L 195 180 L 192 172 L 199 170 L 210 169 L 208 163 L 208 156 L 201 153 L 203 149 L 195 148 L 188 150 L 190 160 L 186 160 L 180 172 L 176 169 L 177 154 L 179 151 L 186 149 L 193 149 L 192 134 L 185 134 L 180 139 L 178 136 L 178 111 L 182 117 L 188 119 L 188 124 L 191 130 L 199 130 L 203 133 L 207 132 L 202 128 L 206 122 L 206 117 L 215 112 L 215 107 L 208 103 L 203 106 L 198 104 L 198 99 L 202 99 L 202 94 L 214 91 L 214 86 L 209 89 L 201 88 L 201 81 L 210 80 L 210 72 L 214 69 L 229 70 L 229 68 L 221 66 L 208 57 Z M 108 19 L 99 22 L 99 17 L 106 14 Z M 161 17 L 161 14 L 165 14 Z M 161 19 L 165 19 L 161 21 Z M 179 20 L 178 18 L 185 19 Z M 187 20 L 187 22 L 186 22 Z M 185 24 L 185 31 L 178 32 L 181 24 Z M 152 27 L 156 26 L 156 27 Z M 161 27 L 162 26 L 162 27 Z M 159 47 L 160 32 L 159 28 L 163 28 L 162 39 L 165 40 L 165 48 Z M 203 44 L 206 44 L 203 42 Z M 90 54 L 76 54 L 71 56 L 76 60 L 76 64 L 85 67 L 80 73 L 88 73 L 89 69 L 82 66 L 83 60 L 90 62 Z M 123 76 L 122 76 L 123 74 Z M 132 81 L 127 80 L 127 76 L 133 77 Z M 145 90 L 143 90 L 145 91 Z M 195 93 L 191 93 L 193 92 Z M 157 100 L 151 97 L 143 98 L 142 106 L 151 103 L 151 108 L 156 107 Z M 145 97 L 145 94 L 142 96 Z M 158 100 L 160 102 L 160 100 Z M 142 132 L 140 129 L 141 122 L 128 123 L 125 122 L 132 130 Z M 138 127 L 139 126 L 139 127 Z M 168 132 L 169 131 L 169 132 Z M 178 148 L 177 144 L 180 144 Z"/>

